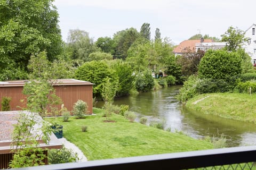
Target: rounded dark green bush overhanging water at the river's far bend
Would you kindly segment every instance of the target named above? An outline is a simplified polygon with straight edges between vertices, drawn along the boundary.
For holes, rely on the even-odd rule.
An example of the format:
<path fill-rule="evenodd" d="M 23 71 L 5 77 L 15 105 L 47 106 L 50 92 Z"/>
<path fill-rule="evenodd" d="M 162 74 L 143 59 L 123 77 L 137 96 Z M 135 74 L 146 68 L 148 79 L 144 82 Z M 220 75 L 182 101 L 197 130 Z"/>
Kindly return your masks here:
<path fill-rule="evenodd" d="M 135 78 L 135 87 L 138 91 L 147 92 L 154 87 L 154 78 L 151 75 L 150 70 L 145 70 L 138 73 Z"/>

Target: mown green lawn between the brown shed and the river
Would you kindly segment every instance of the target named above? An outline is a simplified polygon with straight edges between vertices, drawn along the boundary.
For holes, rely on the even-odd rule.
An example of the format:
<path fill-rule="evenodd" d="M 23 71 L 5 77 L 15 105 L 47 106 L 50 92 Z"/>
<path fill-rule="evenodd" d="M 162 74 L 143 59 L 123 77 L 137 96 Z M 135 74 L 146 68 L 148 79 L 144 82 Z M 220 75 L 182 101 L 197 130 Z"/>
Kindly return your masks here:
<path fill-rule="evenodd" d="M 116 114 L 109 118 L 116 122 L 103 122 L 106 117 L 102 117 L 102 111 L 94 108 L 97 115 L 70 117 L 69 122 L 62 122 L 61 117 L 46 120 L 63 125 L 63 136 L 79 147 L 88 160 L 212 149 L 212 144 L 203 140 L 131 123 Z M 88 126 L 87 132 L 81 131 L 82 125 Z"/>

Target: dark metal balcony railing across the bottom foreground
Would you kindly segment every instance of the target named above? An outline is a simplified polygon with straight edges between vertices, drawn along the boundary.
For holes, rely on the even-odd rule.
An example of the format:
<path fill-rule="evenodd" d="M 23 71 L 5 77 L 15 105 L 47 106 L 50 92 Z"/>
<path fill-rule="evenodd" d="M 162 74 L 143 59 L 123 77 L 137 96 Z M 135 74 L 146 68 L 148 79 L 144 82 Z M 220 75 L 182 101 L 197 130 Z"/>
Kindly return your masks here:
<path fill-rule="evenodd" d="M 256 169 L 256 146 L 234 147 L 212 150 L 200 150 L 189 152 L 178 152 L 173 154 L 149 155 L 138 157 L 127 157 L 117 159 L 92 160 L 80 163 L 66 163 L 45 165 L 29 168 L 20 168 L 25 170 L 40 169 L 191 169 L 201 167 L 214 167 L 231 164 L 250 163 L 249 169 Z M 235 167 L 235 168 L 234 168 Z M 230 169 L 244 169 L 242 166 L 234 166 Z M 217 168 L 213 168 L 217 169 Z M 218 168 L 219 169 L 219 168 Z M 225 169 L 225 168 L 221 168 Z"/>

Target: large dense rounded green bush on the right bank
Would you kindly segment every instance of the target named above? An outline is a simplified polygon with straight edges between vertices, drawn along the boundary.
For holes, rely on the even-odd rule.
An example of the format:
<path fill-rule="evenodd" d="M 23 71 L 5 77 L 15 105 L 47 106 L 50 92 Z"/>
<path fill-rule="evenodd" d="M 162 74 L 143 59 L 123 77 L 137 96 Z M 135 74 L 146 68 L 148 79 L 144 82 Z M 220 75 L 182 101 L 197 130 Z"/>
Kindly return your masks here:
<path fill-rule="evenodd" d="M 242 58 L 236 52 L 207 50 L 199 64 L 198 75 L 199 78 L 223 79 L 229 82 L 231 78 L 241 74 L 241 63 Z"/>

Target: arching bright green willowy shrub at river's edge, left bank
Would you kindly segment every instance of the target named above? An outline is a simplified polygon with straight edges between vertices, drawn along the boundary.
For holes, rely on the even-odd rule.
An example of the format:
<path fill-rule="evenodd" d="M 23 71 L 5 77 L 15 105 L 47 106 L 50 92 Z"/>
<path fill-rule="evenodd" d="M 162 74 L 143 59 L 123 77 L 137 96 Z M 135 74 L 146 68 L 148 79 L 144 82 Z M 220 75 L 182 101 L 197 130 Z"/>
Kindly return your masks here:
<path fill-rule="evenodd" d="M 111 67 L 115 70 L 118 77 L 118 88 L 116 96 L 129 95 L 129 91 L 134 87 L 133 70 L 131 65 L 121 60 L 116 60 Z"/>

